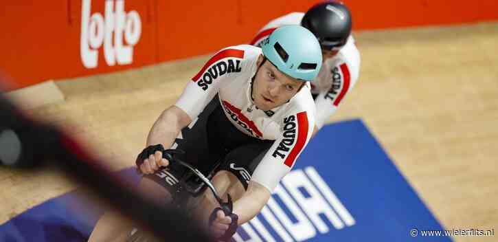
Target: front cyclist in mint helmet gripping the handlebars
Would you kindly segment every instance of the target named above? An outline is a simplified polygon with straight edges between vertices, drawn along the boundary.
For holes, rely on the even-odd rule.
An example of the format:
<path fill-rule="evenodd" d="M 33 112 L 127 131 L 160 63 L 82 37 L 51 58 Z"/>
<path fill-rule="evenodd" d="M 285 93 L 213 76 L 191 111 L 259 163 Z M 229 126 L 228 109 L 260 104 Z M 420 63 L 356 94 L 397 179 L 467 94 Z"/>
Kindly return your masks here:
<path fill-rule="evenodd" d="M 216 53 L 185 87 L 177 102 L 152 126 L 137 166 L 140 186 L 158 201 L 187 204 L 199 195 L 199 181 L 185 167 L 163 157 L 166 148 L 204 174 L 226 199 L 225 214 L 210 191 L 201 190 L 198 214 L 214 236 L 227 240 L 252 219 L 310 140 L 315 104 L 307 84 L 321 67 L 315 36 L 301 26 L 273 31 L 261 48 L 227 47 Z M 90 241 L 113 237 L 120 227 L 112 214 L 95 226 Z"/>

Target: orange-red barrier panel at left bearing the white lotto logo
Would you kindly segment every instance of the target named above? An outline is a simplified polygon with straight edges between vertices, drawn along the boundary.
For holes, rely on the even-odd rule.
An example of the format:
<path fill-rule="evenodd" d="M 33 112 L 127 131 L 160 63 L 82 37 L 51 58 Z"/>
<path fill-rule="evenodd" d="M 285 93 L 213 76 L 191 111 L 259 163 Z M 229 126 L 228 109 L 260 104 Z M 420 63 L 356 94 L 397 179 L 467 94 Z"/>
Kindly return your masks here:
<path fill-rule="evenodd" d="M 0 10 L 0 71 L 16 80 L 10 89 L 150 65 L 157 59 L 153 0 L 14 2 Z"/>

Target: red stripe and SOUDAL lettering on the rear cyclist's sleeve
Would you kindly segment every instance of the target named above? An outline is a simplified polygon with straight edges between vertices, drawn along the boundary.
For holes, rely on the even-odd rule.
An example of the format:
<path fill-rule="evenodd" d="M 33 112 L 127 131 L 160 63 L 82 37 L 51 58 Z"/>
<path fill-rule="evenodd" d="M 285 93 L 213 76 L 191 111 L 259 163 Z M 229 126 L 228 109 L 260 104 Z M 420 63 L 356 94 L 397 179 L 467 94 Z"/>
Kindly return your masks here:
<path fill-rule="evenodd" d="M 339 71 L 340 68 L 340 71 Z M 341 75 L 342 73 L 342 75 Z M 341 83 L 343 81 L 343 83 Z M 335 106 L 339 105 L 350 86 L 350 72 L 346 63 L 332 69 L 332 86 L 325 95 L 325 99 L 330 99 Z"/>

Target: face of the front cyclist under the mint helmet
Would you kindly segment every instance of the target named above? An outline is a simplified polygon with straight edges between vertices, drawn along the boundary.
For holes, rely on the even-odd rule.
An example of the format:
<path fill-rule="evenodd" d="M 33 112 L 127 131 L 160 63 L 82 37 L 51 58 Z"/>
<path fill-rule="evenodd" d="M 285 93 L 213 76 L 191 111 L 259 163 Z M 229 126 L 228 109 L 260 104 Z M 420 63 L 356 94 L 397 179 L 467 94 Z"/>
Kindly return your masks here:
<path fill-rule="evenodd" d="M 260 65 L 263 57 L 258 58 Z M 253 99 L 259 109 L 267 111 L 286 103 L 304 85 L 304 82 L 280 72 L 271 62 L 265 61 L 253 83 Z"/>

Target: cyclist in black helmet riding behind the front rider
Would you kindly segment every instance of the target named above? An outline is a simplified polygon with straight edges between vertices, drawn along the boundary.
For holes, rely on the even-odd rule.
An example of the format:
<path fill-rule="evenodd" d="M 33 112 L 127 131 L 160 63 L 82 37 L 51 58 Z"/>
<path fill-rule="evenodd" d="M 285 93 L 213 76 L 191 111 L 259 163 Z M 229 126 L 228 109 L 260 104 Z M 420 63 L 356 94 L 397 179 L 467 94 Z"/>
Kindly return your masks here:
<path fill-rule="evenodd" d="M 352 16 L 343 3 L 324 1 L 313 5 L 306 13 L 292 12 L 273 19 L 264 25 L 251 45 L 259 46 L 273 30 L 284 25 L 302 25 L 313 32 L 324 56 L 321 70 L 311 83 L 317 109 L 315 135 L 337 111 L 359 77 L 360 54 L 351 35 Z"/>

